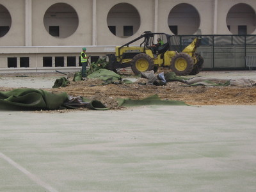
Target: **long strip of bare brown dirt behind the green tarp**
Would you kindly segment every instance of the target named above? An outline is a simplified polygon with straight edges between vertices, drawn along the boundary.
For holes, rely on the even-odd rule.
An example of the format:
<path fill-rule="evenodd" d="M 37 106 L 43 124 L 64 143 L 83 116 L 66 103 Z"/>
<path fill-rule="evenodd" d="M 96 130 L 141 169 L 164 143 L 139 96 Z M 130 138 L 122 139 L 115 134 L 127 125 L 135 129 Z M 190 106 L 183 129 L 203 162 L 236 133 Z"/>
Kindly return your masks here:
<path fill-rule="evenodd" d="M 180 100 L 193 105 L 255 105 L 255 87 L 236 86 L 181 86 L 179 82 L 169 82 L 166 86 L 133 84 L 107 84 L 102 81 L 88 81 L 71 83 L 64 88 L 52 89 L 52 92 L 67 92 L 69 95 L 93 97 L 102 95 L 115 98 L 143 99 L 157 94 L 161 99 Z"/>

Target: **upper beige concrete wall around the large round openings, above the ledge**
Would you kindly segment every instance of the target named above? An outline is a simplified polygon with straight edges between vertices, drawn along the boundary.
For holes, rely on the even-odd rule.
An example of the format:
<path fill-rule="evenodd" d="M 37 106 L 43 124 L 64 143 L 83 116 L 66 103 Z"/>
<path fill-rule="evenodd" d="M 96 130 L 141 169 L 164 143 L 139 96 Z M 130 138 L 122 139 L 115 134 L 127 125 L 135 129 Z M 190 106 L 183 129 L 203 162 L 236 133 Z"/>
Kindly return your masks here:
<path fill-rule="evenodd" d="M 31 23 L 26 23 L 26 2 L 31 1 Z M 25 3 L 24 3 L 25 2 Z M 139 18 L 118 18 L 115 19 L 108 18 L 108 13 L 118 3 L 129 3 L 136 11 L 138 11 Z M 195 34 L 196 28 L 202 31 L 202 35 L 206 34 L 232 34 L 227 28 L 227 13 L 237 3 L 245 3 L 256 10 L 255 0 L 204 0 L 204 1 L 168 1 L 168 0 L 62 0 L 61 3 L 67 3 L 77 13 L 78 26 L 76 31 L 68 36 L 67 38 L 56 38 L 49 35 L 48 27 L 49 25 L 60 25 L 63 23 L 56 23 L 56 19 L 51 20 L 45 18 L 47 26 L 44 24 L 44 15 L 49 7 L 55 3 L 60 3 L 58 0 L 0 0 L 0 4 L 7 8 L 12 17 L 12 26 L 10 31 L 0 38 L 1 46 L 25 46 L 26 45 L 26 33 L 28 33 L 28 28 L 31 28 L 31 45 L 32 46 L 61 46 L 61 45 L 93 45 L 93 40 L 95 40 L 95 45 L 120 45 L 125 42 L 129 42 L 134 37 L 141 35 L 143 31 L 155 31 L 164 32 L 172 34 L 168 27 L 168 22 L 173 18 L 168 17 L 172 9 L 181 4 L 186 3 L 189 6 L 195 8 L 196 18 L 189 17 L 189 13 L 177 13 L 175 24 L 179 26 L 180 34 L 186 35 Z M 95 6 L 95 12 L 93 12 L 93 3 Z M 157 7 L 156 7 L 157 3 Z M 157 9 L 157 10 L 156 10 Z M 216 10 L 214 10 L 216 9 Z M 188 10 L 189 12 L 189 10 Z M 216 12 L 216 13 L 215 13 Z M 198 16 L 197 16 L 198 15 Z M 199 18 L 198 18 L 199 17 Z M 93 19 L 95 19 L 95 24 L 93 26 Z M 110 20 L 110 21 L 109 21 Z M 216 26 L 214 22 L 216 20 Z M 248 24 L 248 33 L 256 34 L 255 27 L 255 15 L 248 15 L 248 18 L 242 19 L 242 24 Z M 66 19 L 63 22 L 73 22 L 74 19 Z M 122 33 L 122 25 L 133 25 L 134 35 L 129 37 L 118 37 L 113 35 L 108 29 L 108 21 L 110 24 L 117 26 L 117 33 Z M 254 21 L 254 22 L 253 22 Z M 230 19 L 231 29 L 234 33 L 237 29 L 233 29 L 234 26 L 241 23 L 241 19 Z M 30 25 L 30 26 L 29 26 Z M 68 25 L 68 24 L 67 24 Z M 76 25 L 76 24 L 75 24 Z M 46 27 L 46 29 L 45 29 Z M 74 26 L 72 26 L 72 29 Z M 216 28 L 216 33 L 214 33 L 214 28 Z M 27 31 L 26 31 L 27 30 Z M 64 33 L 69 33 L 69 29 Z M 71 28 L 70 28 L 71 30 Z M 121 30 L 121 32 L 119 32 Z M 61 29 L 61 33 L 63 30 Z M 67 36 L 67 35 L 63 35 Z M 60 36 L 61 37 L 61 36 Z"/>

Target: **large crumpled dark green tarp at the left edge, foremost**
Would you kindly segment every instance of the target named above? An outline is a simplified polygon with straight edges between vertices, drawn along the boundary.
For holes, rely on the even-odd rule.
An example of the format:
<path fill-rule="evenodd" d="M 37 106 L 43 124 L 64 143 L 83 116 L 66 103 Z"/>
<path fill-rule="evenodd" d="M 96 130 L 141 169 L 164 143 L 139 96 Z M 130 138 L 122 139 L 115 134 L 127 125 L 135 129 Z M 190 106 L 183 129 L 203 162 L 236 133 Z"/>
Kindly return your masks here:
<path fill-rule="evenodd" d="M 75 101 L 75 102 L 74 102 Z M 1 110 L 56 110 L 89 108 L 107 110 L 106 106 L 97 100 L 83 102 L 83 100 L 70 99 L 67 93 L 51 93 L 32 88 L 20 88 L 9 92 L 0 92 Z"/>

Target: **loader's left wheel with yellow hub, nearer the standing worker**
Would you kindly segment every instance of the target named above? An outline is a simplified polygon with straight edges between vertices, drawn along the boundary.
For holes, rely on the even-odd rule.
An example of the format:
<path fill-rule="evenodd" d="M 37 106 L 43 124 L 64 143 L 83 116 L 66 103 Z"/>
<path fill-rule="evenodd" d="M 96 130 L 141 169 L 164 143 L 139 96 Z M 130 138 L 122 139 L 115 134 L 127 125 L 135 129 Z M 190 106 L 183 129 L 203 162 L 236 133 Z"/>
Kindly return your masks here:
<path fill-rule="evenodd" d="M 132 59 L 132 72 L 138 75 L 141 72 L 154 69 L 154 60 L 145 53 L 140 53 Z"/>

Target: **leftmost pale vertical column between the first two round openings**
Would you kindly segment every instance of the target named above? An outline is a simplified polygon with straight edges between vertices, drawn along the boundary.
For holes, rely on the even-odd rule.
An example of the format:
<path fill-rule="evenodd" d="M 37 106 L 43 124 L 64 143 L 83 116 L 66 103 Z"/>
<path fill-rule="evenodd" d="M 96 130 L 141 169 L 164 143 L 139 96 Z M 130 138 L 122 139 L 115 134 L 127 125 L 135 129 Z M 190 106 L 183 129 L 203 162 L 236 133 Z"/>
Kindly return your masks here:
<path fill-rule="evenodd" d="M 32 0 L 25 1 L 25 46 L 32 46 Z"/>

